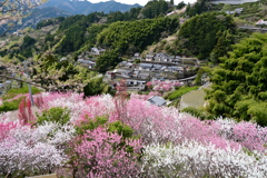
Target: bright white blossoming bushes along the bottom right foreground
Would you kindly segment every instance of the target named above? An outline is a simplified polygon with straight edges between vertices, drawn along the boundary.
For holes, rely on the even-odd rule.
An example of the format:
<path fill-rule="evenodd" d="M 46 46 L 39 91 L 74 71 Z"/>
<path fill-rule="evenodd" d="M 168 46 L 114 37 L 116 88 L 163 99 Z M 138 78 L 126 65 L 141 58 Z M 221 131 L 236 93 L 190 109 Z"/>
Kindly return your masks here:
<path fill-rule="evenodd" d="M 264 154 L 216 149 L 212 145 L 196 141 L 177 146 L 147 146 L 142 162 L 145 177 L 267 177 L 267 158 Z"/>

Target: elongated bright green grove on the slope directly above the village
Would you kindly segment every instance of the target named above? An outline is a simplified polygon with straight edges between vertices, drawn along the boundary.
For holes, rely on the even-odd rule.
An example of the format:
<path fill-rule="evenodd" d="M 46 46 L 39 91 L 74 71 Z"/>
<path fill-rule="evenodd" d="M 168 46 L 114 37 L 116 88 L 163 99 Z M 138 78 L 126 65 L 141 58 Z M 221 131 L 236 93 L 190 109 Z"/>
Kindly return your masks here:
<path fill-rule="evenodd" d="M 177 18 L 145 19 L 115 22 L 98 34 L 97 43 L 103 48 L 118 50 L 122 55 L 134 55 L 157 42 L 161 34 L 172 34 L 179 27 Z"/>

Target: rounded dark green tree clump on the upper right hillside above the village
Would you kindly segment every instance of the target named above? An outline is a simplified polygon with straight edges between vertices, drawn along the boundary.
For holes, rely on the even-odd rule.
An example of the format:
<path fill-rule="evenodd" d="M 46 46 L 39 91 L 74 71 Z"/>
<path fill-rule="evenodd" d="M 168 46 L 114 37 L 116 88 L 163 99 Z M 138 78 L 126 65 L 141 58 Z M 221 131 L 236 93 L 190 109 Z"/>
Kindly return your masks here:
<path fill-rule="evenodd" d="M 235 33 L 235 23 L 231 17 L 219 12 L 204 13 L 181 26 L 177 46 L 181 52 L 189 50 L 199 59 L 208 58 L 216 48 L 214 55 L 217 57 L 214 58 L 218 58 L 224 56 L 234 42 L 229 40 L 233 33 Z M 226 39 L 221 38 L 222 34 Z"/>

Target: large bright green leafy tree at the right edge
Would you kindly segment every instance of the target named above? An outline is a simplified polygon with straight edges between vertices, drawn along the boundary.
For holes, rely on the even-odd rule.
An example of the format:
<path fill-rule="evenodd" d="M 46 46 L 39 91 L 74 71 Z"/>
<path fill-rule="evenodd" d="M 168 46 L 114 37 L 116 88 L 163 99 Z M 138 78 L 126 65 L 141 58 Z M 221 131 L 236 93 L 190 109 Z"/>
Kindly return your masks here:
<path fill-rule="evenodd" d="M 211 75 L 208 111 L 267 126 L 267 34 L 254 33 L 233 46 Z"/>

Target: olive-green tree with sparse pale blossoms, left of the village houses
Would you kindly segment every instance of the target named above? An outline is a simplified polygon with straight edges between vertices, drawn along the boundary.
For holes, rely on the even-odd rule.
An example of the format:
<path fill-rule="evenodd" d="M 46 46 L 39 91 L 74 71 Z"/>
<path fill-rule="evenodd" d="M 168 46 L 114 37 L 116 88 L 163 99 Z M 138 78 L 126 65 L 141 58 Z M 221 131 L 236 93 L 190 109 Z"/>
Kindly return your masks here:
<path fill-rule="evenodd" d="M 50 91 L 83 92 L 83 87 L 97 73 L 89 71 L 72 60 L 59 60 L 52 55 L 36 58 L 32 66 L 32 81 Z"/>

